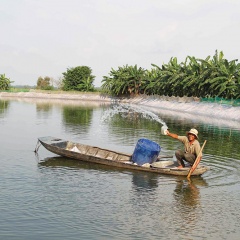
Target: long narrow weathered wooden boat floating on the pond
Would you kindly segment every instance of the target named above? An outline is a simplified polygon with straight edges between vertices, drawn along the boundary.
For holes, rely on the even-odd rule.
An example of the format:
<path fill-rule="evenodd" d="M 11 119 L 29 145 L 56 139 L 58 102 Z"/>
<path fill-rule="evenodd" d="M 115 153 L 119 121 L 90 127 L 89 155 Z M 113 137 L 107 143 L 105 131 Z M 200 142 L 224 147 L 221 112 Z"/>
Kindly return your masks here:
<path fill-rule="evenodd" d="M 190 167 L 178 169 L 176 162 L 164 160 L 166 157 L 158 157 L 156 162 L 152 164 L 146 163 L 140 166 L 132 161 L 131 154 L 111 151 L 108 149 L 84 145 L 80 143 L 74 143 L 50 136 L 40 137 L 38 140 L 47 150 L 52 153 L 86 162 L 177 176 L 187 176 L 190 170 Z M 208 167 L 198 165 L 192 175 L 202 175 L 207 170 L 209 170 Z"/>

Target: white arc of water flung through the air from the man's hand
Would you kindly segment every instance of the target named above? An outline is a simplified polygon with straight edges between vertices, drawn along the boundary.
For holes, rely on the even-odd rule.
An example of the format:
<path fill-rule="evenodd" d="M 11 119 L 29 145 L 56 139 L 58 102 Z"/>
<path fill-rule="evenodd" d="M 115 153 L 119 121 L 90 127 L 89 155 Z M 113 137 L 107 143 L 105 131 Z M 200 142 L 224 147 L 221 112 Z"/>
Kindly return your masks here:
<path fill-rule="evenodd" d="M 163 126 L 167 127 L 166 123 L 162 119 L 160 119 L 155 113 L 147 111 L 136 105 L 130 104 L 119 104 L 113 106 L 112 109 L 108 109 L 107 111 L 104 112 L 101 121 L 105 122 L 108 119 L 112 118 L 115 114 L 121 114 L 122 117 L 129 117 L 130 114 L 134 115 L 134 113 L 140 113 L 143 116 L 143 118 L 156 121 L 162 124 Z"/>

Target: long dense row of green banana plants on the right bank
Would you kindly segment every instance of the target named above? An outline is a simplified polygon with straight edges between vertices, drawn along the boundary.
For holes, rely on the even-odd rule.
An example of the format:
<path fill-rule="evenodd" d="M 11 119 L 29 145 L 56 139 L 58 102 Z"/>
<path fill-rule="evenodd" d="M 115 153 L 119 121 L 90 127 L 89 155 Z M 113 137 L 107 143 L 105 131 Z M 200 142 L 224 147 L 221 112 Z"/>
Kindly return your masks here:
<path fill-rule="evenodd" d="M 237 59 L 224 59 L 221 51 L 211 58 L 187 56 L 178 63 L 171 58 L 161 67 L 152 64 L 151 70 L 119 67 L 103 77 L 102 88 L 113 95 L 145 93 L 148 95 L 240 98 L 240 64 Z"/>

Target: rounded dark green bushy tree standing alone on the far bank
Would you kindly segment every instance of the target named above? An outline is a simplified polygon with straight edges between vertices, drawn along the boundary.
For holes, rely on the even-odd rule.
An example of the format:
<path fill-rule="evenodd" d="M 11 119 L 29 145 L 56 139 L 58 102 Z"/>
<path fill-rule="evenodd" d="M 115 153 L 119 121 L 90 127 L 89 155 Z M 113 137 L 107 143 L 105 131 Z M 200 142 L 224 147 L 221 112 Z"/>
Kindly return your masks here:
<path fill-rule="evenodd" d="M 83 92 L 94 91 L 93 81 L 95 76 L 92 75 L 92 69 L 87 66 L 78 66 L 68 68 L 63 73 L 63 90 L 77 90 Z"/>

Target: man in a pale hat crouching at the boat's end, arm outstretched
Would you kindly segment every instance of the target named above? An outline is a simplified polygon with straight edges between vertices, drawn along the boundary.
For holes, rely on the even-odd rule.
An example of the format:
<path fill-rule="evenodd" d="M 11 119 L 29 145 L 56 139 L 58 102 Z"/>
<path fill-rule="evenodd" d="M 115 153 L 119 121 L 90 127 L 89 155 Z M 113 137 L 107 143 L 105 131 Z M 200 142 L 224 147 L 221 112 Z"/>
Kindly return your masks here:
<path fill-rule="evenodd" d="M 200 159 L 202 158 L 201 148 L 198 142 L 198 131 L 196 129 L 192 128 L 189 132 L 187 132 L 187 136 L 178 136 L 175 133 L 170 133 L 169 130 L 166 131 L 166 135 L 178 139 L 184 144 L 184 151 L 177 150 L 175 152 L 179 164 L 178 168 L 185 167 L 183 160 L 190 163 L 192 166 L 198 155 Z"/>

